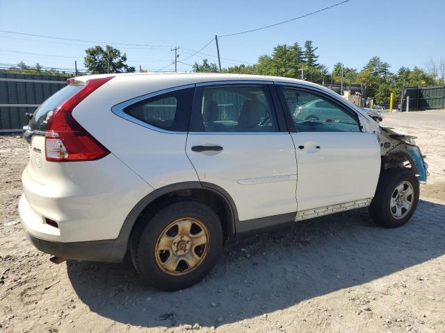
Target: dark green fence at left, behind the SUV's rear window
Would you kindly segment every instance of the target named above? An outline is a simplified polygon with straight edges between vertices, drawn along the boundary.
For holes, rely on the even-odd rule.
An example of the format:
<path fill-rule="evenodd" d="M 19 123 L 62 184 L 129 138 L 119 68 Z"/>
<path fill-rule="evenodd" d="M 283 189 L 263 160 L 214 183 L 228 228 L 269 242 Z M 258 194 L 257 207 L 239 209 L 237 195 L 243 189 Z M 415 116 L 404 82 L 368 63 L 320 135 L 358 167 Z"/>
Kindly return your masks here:
<path fill-rule="evenodd" d="M 0 72 L 0 133 L 21 131 L 28 123 L 26 112 L 34 112 L 66 84 L 61 76 Z"/>

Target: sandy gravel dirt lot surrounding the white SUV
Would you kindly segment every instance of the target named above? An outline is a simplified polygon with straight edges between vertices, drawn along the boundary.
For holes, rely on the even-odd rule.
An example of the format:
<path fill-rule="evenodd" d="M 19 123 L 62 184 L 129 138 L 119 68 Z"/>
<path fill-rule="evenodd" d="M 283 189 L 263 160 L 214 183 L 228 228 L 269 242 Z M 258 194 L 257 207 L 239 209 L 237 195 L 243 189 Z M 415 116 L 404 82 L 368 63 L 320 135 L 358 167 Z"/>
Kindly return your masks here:
<path fill-rule="evenodd" d="M 445 332 L 445 111 L 385 114 L 419 136 L 430 179 L 412 220 L 366 210 L 229 242 L 184 291 L 145 287 L 123 264 L 55 265 L 18 223 L 19 137 L 0 137 L 0 332 Z"/>

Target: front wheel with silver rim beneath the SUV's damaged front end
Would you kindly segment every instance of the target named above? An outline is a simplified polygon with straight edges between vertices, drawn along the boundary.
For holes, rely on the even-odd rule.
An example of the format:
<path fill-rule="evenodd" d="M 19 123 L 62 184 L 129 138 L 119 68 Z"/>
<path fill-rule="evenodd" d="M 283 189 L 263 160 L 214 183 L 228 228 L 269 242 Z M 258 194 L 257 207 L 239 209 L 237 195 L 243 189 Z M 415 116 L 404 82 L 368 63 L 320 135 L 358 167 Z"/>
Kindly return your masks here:
<path fill-rule="evenodd" d="M 419 180 L 411 169 L 382 171 L 369 206 L 373 221 L 384 228 L 404 225 L 416 210 L 419 194 Z"/>

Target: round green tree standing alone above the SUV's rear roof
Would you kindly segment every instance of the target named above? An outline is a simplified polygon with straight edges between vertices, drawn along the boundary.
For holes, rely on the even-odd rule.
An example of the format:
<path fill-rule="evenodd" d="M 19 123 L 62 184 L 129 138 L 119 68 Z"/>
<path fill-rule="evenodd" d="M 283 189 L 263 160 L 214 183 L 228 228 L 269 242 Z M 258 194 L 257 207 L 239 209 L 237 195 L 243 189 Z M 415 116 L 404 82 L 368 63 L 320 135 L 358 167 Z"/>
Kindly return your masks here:
<path fill-rule="evenodd" d="M 135 71 L 134 67 L 126 63 L 127 54 L 121 53 L 113 46 L 106 45 L 103 49 L 102 46 L 97 45 L 86 49 L 85 53 L 83 63 L 90 73 L 132 73 Z"/>

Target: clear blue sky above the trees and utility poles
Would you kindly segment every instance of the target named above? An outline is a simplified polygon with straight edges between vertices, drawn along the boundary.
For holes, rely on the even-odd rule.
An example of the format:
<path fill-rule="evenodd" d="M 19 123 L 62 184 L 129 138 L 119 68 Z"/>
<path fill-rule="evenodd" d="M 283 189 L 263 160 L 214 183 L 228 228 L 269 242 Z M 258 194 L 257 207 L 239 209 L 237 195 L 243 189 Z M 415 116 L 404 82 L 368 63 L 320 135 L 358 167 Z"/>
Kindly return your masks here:
<path fill-rule="evenodd" d="M 0 30 L 76 40 L 161 45 L 114 45 L 129 65 L 154 71 L 172 62 L 172 46 L 187 64 L 216 62 L 214 35 L 236 33 L 298 17 L 340 0 L 300 1 L 7 1 L 0 0 Z M 351 0 L 341 6 L 263 31 L 220 38 L 223 67 L 256 62 L 277 44 L 313 40 L 319 61 L 362 68 L 372 56 L 401 66 L 424 67 L 445 57 L 444 0 Z M 65 43 L 56 44 L 55 42 Z M 0 33 L 0 63 L 83 68 L 84 50 L 95 43 Z M 165 46 L 165 47 L 164 47 Z M 16 52 L 16 53 L 14 53 Z M 21 53 L 19 53 L 21 52 Z M 40 56 L 40 53 L 50 56 Z M 173 69 L 173 66 L 167 69 Z M 179 64 L 179 70 L 191 67 Z"/>

